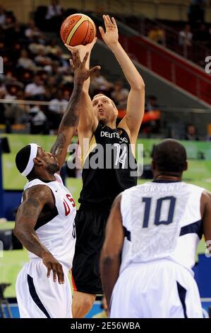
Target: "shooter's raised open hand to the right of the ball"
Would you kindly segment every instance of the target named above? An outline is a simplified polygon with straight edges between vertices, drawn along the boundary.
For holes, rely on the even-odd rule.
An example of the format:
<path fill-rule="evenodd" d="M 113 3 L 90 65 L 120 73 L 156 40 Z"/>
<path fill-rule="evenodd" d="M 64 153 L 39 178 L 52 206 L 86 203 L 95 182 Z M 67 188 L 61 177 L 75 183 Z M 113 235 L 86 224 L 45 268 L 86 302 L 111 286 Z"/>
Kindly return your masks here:
<path fill-rule="evenodd" d="M 109 47 L 112 47 L 119 40 L 118 28 L 116 25 L 115 19 L 112 17 L 110 18 L 109 15 L 103 15 L 104 19 L 104 26 L 106 28 L 106 32 L 102 27 L 99 27 L 100 33 L 102 35 L 102 39 L 104 43 L 106 43 Z"/>

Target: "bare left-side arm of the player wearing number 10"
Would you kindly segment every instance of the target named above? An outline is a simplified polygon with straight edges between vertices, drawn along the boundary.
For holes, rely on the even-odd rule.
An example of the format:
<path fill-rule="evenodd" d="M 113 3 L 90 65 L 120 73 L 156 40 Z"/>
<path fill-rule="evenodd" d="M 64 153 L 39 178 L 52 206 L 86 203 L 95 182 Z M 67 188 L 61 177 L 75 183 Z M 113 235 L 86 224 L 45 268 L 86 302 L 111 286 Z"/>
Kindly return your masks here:
<path fill-rule="evenodd" d="M 106 236 L 100 257 L 102 288 L 109 306 L 112 290 L 119 276 L 120 255 L 123 247 L 123 225 L 120 211 L 121 195 L 115 200 L 106 227 Z"/>

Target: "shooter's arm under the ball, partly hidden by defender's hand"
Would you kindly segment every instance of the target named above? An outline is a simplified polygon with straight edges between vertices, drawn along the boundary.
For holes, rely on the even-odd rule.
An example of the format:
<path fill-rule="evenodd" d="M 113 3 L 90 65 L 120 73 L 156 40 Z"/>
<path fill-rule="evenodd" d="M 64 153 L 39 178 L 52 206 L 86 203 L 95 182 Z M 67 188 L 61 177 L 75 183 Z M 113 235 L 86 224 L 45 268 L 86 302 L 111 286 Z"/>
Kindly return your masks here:
<path fill-rule="evenodd" d="M 94 38 L 92 43 L 87 45 L 78 45 L 78 46 L 69 46 L 65 45 L 69 51 L 74 52 L 78 50 L 80 54 L 80 59 L 83 59 L 86 52 L 89 52 L 88 60 L 85 64 L 87 69 L 90 68 L 90 55 L 92 51 L 92 47 L 94 47 L 97 38 Z M 83 137 L 92 137 L 92 133 L 95 132 L 97 128 L 98 120 L 95 116 L 94 110 L 92 108 L 92 100 L 89 95 L 90 89 L 90 77 L 83 84 L 83 92 L 81 96 L 81 109 L 80 109 L 80 117 L 78 123 L 78 134 L 83 135 Z"/>

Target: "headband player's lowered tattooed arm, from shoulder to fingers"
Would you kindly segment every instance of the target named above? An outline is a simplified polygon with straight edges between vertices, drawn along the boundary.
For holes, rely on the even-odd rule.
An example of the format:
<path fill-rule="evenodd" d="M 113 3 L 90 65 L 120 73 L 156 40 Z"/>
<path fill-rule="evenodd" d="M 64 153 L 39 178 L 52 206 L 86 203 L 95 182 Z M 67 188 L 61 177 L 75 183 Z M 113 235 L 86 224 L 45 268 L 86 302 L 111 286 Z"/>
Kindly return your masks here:
<path fill-rule="evenodd" d="M 47 276 L 54 272 L 54 282 L 58 276 L 59 283 L 64 283 L 64 272 L 61 264 L 49 250 L 40 242 L 35 232 L 35 225 L 44 205 L 54 208 L 54 198 L 48 186 L 32 186 L 23 193 L 23 203 L 18 208 L 16 215 L 14 235 L 20 240 L 28 251 L 42 258 L 47 266 Z"/>

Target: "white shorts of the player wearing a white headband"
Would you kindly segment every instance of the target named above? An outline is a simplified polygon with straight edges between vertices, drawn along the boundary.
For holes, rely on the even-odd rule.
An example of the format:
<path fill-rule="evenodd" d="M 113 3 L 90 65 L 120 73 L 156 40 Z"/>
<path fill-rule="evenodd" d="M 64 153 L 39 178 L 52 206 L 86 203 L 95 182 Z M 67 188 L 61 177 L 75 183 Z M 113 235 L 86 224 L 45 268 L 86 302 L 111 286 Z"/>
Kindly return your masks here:
<path fill-rule="evenodd" d="M 16 296 L 21 318 L 72 318 L 72 294 L 68 268 L 63 266 L 64 284 L 54 282 L 53 272 L 47 278 L 42 260 L 31 260 L 23 266 L 16 281 Z"/>

